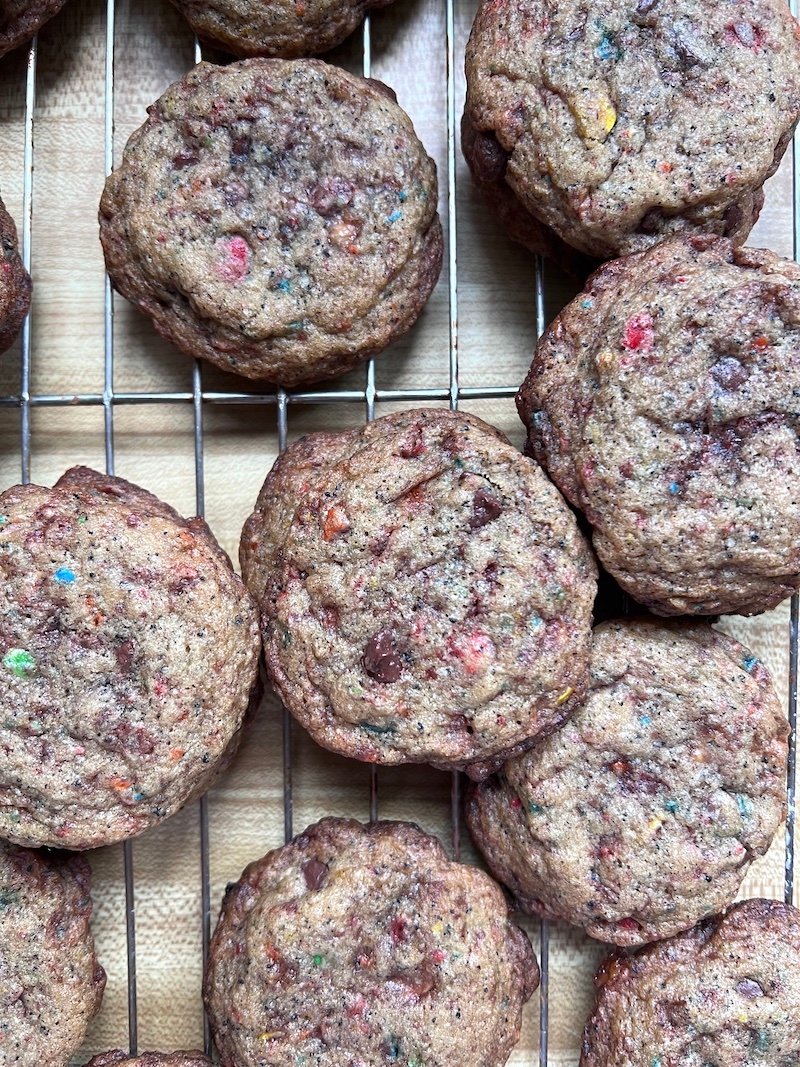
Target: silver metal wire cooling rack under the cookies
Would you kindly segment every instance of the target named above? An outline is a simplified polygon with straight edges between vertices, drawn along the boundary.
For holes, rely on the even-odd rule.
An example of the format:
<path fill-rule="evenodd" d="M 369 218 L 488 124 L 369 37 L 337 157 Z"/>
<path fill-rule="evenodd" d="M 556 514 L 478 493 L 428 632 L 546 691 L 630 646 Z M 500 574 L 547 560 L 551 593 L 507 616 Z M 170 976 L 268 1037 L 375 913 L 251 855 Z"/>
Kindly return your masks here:
<path fill-rule="evenodd" d="M 30 481 L 31 471 L 31 409 L 101 407 L 103 410 L 103 436 L 106 445 L 107 473 L 114 474 L 114 409 L 127 404 L 191 404 L 194 415 L 194 478 L 195 507 L 198 515 L 205 511 L 205 451 L 203 416 L 206 404 L 237 405 L 258 404 L 275 408 L 277 439 L 281 450 L 286 447 L 288 412 L 292 404 L 352 403 L 364 404 L 367 421 L 374 417 L 375 403 L 395 401 L 415 403 L 439 401 L 458 409 L 461 400 L 489 400 L 513 397 L 514 386 L 495 385 L 467 388 L 459 384 L 459 278 L 458 278 L 458 229 L 455 212 L 455 152 L 458 141 L 458 116 L 455 108 L 455 69 L 461 55 L 455 49 L 454 3 L 446 4 L 446 50 L 447 50 L 447 220 L 448 254 L 447 278 L 449 300 L 449 386 L 448 388 L 379 389 L 375 386 L 374 361 L 366 365 L 364 388 L 331 389 L 318 392 L 274 393 L 259 392 L 214 392 L 203 388 L 203 368 L 195 361 L 192 372 L 191 392 L 116 393 L 114 391 L 114 297 L 111 283 L 105 281 L 105 376 L 102 393 L 83 394 L 32 394 L 31 393 L 31 346 L 30 316 L 21 331 L 21 373 L 18 395 L 0 396 L 0 405 L 18 408 L 20 412 L 20 465 L 21 481 Z M 800 0 L 790 0 L 789 7 L 798 16 Z M 115 0 L 106 0 L 106 65 L 105 65 L 105 165 L 110 174 L 114 161 L 114 23 Z M 195 41 L 195 62 L 202 59 L 202 49 Z M 31 268 L 31 230 L 33 221 L 33 165 L 34 165 L 34 113 L 36 106 L 36 57 L 37 39 L 33 38 L 28 52 L 25 94 L 25 152 L 23 152 L 23 198 L 22 198 L 22 261 L 28 271 Z M 365 77 L 371 74 L 370 19 L 367 16 L 363 27 L 362 69 Z M 800 131 L 793 142 L 793 248 L 794 257 L 800 256 Z M 540 258 L 534 262 L 533 301 L 535 308 L 537 334 L 541 336 L 545 328 L 544 270 Z M 785 842 L 784 899 L 790 904 L 795 889 L 795 777 L 797 766 L 797 701 L 798 701 L 798 637 L 800 634 L 800 596 L 791 598 L 788 642 L 789 642 L 789 697 L 788 719 L 790 728 L 788 775 L 786 782 L 787 818 Z M 293 834 L 292 794 L 292 720 L 283 712 L 283 775 L 284 775 L 284 834 L 288 841 Z M 453 855 L 461 854 L 461 779 L 453 773 L 451 784 L 451 838 Z M 201 922 L 204 961 L 208 954 L 211 930 L 211 889 L 209 873 L 208 798 L 198 801 L 198 834 L 201 850 Z M 370 818 L 378 818 L 378 768 L 370 767 L 369 781 Z M 130 1051 L 135 1054 L 139 1045 L 138 1002 L 137 1002 L 137 927 L 135 927 L 135 882 L 133 872 L 133 842 L 122 845 L 125 870 L 125 917 L 128 964 L 128 1039 Z M 549 927 L 545 920 L 540 924 L 539 961 L 540 985 L 540 1040 L 538 1062 L 547 1067 L 548 1019 L 549 1019 Z M 211 1053 L 211 1035 L 208 1019 L 204 1016 L 204 1046 Z"/>

